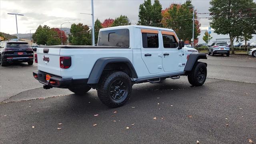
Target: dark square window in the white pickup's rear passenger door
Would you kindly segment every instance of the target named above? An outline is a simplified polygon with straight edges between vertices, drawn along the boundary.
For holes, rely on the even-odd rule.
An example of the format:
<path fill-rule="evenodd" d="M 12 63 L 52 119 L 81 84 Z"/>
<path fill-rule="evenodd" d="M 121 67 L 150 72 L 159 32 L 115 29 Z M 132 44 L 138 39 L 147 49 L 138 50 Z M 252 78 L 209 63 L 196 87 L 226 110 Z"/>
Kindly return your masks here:
<path fill-rule="evenodd" d="M 143 48 L 158 48 L 158 34 L 142 33 Z"/>

